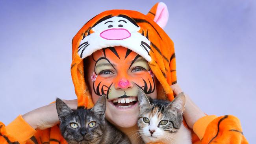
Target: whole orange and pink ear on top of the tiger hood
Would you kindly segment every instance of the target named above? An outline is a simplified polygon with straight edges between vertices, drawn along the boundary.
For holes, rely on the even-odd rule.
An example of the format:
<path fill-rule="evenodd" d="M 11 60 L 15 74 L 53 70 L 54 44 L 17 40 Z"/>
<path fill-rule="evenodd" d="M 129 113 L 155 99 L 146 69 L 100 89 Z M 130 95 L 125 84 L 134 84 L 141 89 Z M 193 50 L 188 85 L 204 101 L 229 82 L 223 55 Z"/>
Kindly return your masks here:
<path fill-rule="evenodd" d="M 165 28 L 169 17 L 169 12 L 166 4 L 163 2 L 155 4 L 150 9 L 147 16 L 154 20 L 154 22 L 156 22 L 158 26 L 160 26 L 162 29 Z"/>

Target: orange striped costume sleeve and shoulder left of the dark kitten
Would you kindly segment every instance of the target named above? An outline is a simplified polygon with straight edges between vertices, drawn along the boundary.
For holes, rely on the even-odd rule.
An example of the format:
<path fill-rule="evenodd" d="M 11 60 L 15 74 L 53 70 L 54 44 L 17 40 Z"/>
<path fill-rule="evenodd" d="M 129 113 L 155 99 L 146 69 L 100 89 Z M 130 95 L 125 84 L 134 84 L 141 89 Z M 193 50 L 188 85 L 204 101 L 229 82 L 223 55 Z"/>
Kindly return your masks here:
<path fill-rule="evenodd" d="M 19 115 L 8 126 L 0 122 L 0 144 L 67 144 L 61 136 L 59 126 L 45 130 L 35 130 Z"/>

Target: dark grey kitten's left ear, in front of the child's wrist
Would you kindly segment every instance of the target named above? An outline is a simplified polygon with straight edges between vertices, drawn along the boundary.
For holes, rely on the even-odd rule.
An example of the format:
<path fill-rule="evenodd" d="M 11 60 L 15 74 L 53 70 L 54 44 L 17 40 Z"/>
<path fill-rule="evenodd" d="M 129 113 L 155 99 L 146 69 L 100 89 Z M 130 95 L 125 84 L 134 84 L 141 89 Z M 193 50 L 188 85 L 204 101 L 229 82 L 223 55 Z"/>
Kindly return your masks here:
<path fill-rule="evenodd" d="M 67 117 L 73 112 L 72 109 L 70 109 L 70 107 L 67 106 L 67 104 L 59 98 L 56 98 L 56 109 L 59 116 L 59 120 L 64 120 L 65 117 Z"/>

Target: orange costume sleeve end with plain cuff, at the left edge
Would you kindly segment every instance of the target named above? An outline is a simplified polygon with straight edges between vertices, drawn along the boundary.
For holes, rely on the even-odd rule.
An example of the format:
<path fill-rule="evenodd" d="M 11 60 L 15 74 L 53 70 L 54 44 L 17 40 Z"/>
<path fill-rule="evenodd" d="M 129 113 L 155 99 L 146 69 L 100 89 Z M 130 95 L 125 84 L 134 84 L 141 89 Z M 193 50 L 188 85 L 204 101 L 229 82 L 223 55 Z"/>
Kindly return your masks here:
<path fill-rule="evenodd" d="M 21 115 L 8 126 L 0 122 L 0 144 L 25 144 L 35 133 Z"/>

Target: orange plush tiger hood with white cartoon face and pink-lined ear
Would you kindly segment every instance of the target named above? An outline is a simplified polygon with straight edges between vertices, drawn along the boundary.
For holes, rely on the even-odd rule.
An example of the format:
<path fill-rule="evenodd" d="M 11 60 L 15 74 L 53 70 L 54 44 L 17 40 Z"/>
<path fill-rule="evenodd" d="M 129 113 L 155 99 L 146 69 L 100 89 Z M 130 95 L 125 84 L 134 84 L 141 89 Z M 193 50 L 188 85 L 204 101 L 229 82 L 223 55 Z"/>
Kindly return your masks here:
<path fill-rule="evenodd" d="M 168 21 L 167 6 L 155 4 L 147 15 L 130 10 L 104 11 L 89 20 L 72 40 L 71 75 L 78 106 L 92 107 L 84 80 L 83 59 L 102 48 L 123 46 L 148 61 L 160 82 L 158 92 L 173 100 L 170 85 L 176 83 L 173 41 L 163 31 Z M 165 94 L 163 94 L 165 93 Z"/>

